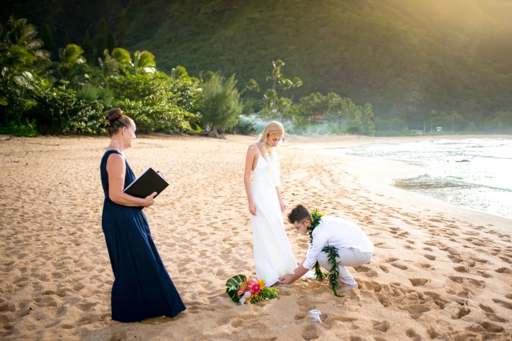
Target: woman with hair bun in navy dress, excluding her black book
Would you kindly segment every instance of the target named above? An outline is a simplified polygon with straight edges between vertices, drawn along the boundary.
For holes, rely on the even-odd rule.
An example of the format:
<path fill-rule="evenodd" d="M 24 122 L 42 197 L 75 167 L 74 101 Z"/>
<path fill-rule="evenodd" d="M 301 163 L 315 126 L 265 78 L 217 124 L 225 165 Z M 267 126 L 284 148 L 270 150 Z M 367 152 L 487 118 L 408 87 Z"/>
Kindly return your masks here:
<path fill-rule="evenodd" d="M 162 263 L 142 212 L 155 203 L 156 193 L 137 198 L 123 192 L 135 180 L 124 156 L 124 150 L 135 140 L 135 122 L 116 108 L 106 114 L 102 125 L 111 138 L 101 158 L 100 173 L 105 194 L 101 226 L 114 271 L 112 320 L 174 317 L 185 310 L 185 305 Z"/>

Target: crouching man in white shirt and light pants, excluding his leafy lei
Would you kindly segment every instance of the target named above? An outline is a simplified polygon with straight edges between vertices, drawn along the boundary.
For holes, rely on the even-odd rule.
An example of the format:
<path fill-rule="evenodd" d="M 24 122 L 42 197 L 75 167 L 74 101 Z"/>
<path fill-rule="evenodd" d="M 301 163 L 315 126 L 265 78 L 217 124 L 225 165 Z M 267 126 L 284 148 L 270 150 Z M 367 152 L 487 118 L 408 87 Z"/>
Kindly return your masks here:
<path fill-rule="evenodd" d="M 334 216 L 323 216 L 320 223 L 313 229 L 313 242 L 309 245 L 306 258 L 294 270 L 294 275 L 284 275 L 280 284 L 290 284 L 301 278 L 316 262 L 323 268 L 330 269 L 327 254 L 322 251 L 330 245 L 337 249 L 339 258 L 340 288 L 337 291 L 348 291 L 357 288 L 357 282 L 349 274 L 345 266 L 357 266 L 370 262 L 375 246 L 355 223 Z M 288 221 L 297 231 L 308 232 L 312 226 L 311 213 L 302 204 L 298 204 L 288 214 Z"/>

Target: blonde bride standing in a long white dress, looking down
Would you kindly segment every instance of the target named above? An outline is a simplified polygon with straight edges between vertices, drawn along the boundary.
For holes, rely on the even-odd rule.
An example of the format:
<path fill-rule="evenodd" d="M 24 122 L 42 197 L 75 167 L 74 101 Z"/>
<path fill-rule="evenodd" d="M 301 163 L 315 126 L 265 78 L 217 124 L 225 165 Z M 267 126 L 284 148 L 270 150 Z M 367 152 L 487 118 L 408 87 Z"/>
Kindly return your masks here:
<path fill-rule="evenodd" d="M 283 135 L 283 125 L 270 122 L 258 142 L 249 146 L 245 159 L 244 184 L 252 225 L 254 265 L 256 276 L 268 286 L 286 274 L 293 274 L 297 267 L 283 225 L 285 204 L 279 190 L 276 149 Z"/>

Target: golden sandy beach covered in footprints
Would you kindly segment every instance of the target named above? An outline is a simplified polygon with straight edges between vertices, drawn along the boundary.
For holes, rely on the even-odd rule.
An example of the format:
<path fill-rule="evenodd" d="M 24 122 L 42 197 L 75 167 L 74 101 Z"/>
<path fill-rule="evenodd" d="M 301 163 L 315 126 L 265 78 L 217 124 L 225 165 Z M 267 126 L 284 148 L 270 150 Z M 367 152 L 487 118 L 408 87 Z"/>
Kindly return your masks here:
<path fill-rule="evenodd" d="M 99 163 L 106 137 L 0 141 L 0 338 L 6 340 L 509 340 L 512 220 L 388 186 L 414 173 L 335 148 L 417 138 L 286 137 L 282 196 L 357 222 L 376 246 L 349 268 L 359 288 L 277 286 L 281 298 L 236 305 L 226 280 L 254 276 L 243 167 L 255 137 L 138 137 L 135 174 L 169 180 L 144 209 L 187 310 L 110 326 L 113 274 L 101 230 Z M 450 138 L 468 138 L 450 137 Z M 284 217 L 283 217 L 284 218 Z M 297 261 L 308 237 L 285 224 Z M 309 324 L 308 311 L 322 311 Z"/>

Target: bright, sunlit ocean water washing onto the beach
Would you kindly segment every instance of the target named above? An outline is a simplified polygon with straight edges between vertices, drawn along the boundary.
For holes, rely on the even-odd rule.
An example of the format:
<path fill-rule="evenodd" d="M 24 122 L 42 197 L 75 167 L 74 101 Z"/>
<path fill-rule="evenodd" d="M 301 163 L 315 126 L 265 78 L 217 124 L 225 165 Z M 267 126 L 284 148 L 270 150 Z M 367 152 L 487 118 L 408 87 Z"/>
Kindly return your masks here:
<path fill-rule="evenodd" d="M 431 139 L 346 152 L 421 169 L 420 175 L 394 179 L 398 188 L 512 219 L 512 139 Z"/>

